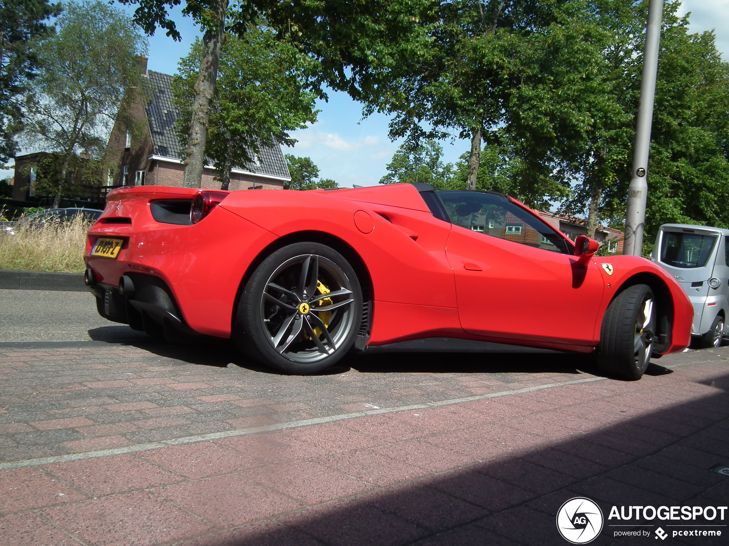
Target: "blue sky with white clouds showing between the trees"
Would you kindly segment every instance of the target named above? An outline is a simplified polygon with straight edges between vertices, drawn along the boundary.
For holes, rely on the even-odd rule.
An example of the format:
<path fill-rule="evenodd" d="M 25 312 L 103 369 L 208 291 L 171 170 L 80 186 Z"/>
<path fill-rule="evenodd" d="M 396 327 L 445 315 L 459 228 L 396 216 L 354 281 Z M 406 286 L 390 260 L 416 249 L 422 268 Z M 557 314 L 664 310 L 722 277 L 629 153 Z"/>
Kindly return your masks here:
<path fill-rule="evenodd" d="M 116 4 L 119 6 L 119 4 Z M 130 7 L 124 7 L 133 12 Z M 729 1 L 685 0 L 682 13 L 691 12 L 691 30 L 701 32 L 715 28 L 717 47 L 729 59 Z M 179 8 L 173 11 L 182 41 L 176 42 L 164 31 L 149 38 L 149 69 L 174 74 L 178 60 L 187 54 L 198 35 L 190 17 L 182 17 Z M 386 174 L 386 165 L 399 146 L 387 137 L 388 117 L 373 114 L 362 119 L 362 107 L 342 92 L 330 92 L 329 101 L 319 101 L 319 120 L 305 130 L 293 133 L 298 143 L 284 153 L 308 156 L 319 166 L 322 178 L 332 178 L 340 186 L 358 184 L 372 186 Z M 445 162 L 456 162 L 469 142 L 443 141 Z M 12 171 L 0 171 L 0 176 Z"/>

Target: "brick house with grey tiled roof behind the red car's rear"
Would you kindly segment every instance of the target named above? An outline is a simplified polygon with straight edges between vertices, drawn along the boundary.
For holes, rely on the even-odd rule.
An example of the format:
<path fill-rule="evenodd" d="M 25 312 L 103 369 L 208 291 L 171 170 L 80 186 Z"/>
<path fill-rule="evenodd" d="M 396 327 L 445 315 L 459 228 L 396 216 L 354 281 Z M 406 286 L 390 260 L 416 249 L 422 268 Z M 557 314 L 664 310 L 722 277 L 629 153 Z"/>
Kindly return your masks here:
<path fill-rule="evenodd" d="M 147 70 L 147 58 L 140 58 L 148 78 L 151 98 L 134 100 L 129 108 L 133 127 L 117 119 L 106 146 L 108 186 L 182 186 L 183 151 L 176 135 L 179 112 L 172 105 L 172 76 Z M 146 103 L 145 103 L 146 102 Z M 204 189 L 220 189 L 213 180 L 212 165 L 203 170 Z M 262 148 L 252 165 L 231 170 L 230 190 L 283 189 L 289 182 L 281 146 Z"/>

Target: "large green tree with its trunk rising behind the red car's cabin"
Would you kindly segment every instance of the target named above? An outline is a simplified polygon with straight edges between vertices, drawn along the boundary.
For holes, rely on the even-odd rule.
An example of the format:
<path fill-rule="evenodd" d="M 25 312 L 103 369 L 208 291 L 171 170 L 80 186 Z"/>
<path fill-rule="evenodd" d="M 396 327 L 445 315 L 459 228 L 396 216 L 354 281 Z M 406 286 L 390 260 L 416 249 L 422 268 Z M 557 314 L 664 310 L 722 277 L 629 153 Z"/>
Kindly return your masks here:
<path fill-rule="evenodd" d="M 569 90 L 596 52 L 584 4 L 568 0 L 444 2 L 429 43 L 388 84 L 365 97 L 365 113 L 394 114 L 391 138 L 410 146 L 455 130 L 469 138 L 467 186 L 475 189 L 482 141 L 510 146 L 523 158 L 521 186 L 564 194 L 564 159 L 546 141 L 568 142 Z M 539 104 L 539 103 L 544 104 Z M 528 107 L 527 107 L 528 106 Z M 534 108 L 537 106 L 537 108 Z M 556 107 L 556 108 L 555 108 Z M 529 138 L 517 138 L 529 128 Z M 560 132 L 555 132 L 558 130 Z M 565 134 L 566 133 L 566 134 Z M 525 193 L 529 193 L 525 191 Z"/>

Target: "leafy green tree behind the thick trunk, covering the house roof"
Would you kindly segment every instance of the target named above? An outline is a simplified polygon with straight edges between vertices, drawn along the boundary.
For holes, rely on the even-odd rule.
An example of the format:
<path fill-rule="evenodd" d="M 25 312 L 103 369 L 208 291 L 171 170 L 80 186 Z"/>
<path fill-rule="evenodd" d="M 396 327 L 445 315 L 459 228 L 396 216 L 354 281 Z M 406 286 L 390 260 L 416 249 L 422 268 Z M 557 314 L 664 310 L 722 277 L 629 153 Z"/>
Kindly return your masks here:
<path fill-rule="evenodd" d="M 192 97 L 203 44 L 195 41 L 190 55 L 174 77 L 174 103 L 181 143 L 189 138 Z M 304 90 L 312 71 L 308 58 L 276 40 L 263 25 L 252 25 L 243 38 L 228 36 L 222 48 L 216 92 L 208 119 L 206 157 L 219 173 L 222 189 L 230 183 L 230 169 L 250 165 L 261 146 L 292 146 L 288 132 L 316 121 L 315 98 Z"/>

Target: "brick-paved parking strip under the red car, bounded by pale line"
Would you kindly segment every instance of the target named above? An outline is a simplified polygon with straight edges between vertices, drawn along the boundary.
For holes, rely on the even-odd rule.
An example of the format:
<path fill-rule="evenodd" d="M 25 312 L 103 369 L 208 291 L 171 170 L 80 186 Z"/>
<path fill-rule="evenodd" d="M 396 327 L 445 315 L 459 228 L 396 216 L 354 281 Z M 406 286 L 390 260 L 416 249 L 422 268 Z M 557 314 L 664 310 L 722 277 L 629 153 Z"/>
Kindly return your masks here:
<path fill-rule="evenodd" d="M 225 344 L 0 347 L 0 355 L 0 462 L 592 377 L 577 370 L 585 359 L 565 355 L 359 357 L 313 377 L 250 366 Z"/>

